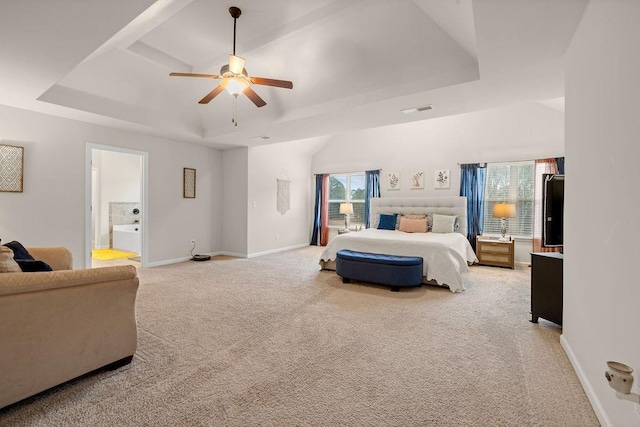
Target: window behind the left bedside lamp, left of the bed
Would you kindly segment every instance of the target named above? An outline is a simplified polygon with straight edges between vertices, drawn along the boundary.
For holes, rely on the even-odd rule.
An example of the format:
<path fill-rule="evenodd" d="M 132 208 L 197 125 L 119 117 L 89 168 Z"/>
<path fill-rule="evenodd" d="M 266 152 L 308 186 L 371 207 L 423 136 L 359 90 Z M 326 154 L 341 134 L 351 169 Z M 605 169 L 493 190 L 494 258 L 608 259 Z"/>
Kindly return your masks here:
<path fill-rule="evenodd" d="M 365 178 L 364 172 L 329 176 L 329 225 L 344 226 L 340 203 L 353 203 L 351 225 L 364 225 Z"/>

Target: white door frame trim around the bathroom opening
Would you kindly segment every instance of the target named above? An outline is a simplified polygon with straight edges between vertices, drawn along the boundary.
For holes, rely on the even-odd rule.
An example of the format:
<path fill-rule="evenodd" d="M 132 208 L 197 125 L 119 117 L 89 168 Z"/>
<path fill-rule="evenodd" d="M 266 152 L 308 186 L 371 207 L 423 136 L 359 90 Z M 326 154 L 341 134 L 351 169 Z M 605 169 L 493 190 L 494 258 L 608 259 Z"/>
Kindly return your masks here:
<path fill-rule="evenodd" d="M 92 154 L 93 150 L 113 151 L 116 153 L 133 154 L 141 157 L 142 171 L 140 177 L 140 232 L 142 240 L 142 254 L 140 266 L 146 267 L 149 263 L 149 153 L 146 151 L 130 150 L 128 148 L 114 147 L 111 145 L 86 143 L 85 149 L 85 233 L 84 233 L 84 268 L 91 268 L 91 181 L 92 181 Z"/>

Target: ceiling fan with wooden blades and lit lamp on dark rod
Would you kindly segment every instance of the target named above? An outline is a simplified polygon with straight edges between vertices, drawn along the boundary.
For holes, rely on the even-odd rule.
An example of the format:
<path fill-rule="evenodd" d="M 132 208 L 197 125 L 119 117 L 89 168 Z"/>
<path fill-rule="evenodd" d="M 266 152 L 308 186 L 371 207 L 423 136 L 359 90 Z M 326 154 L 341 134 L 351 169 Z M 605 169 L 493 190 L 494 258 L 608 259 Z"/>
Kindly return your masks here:
<path fill-rule="evenodd" d="M 220 74 L 170 73 L 169 75 L 221 79 L 220 84 L 199 101 L 200 104 L 208 104 L 213 98 L 218 96 L 220 92 L 227 89 L 227 92 L 235 98 L 237 98 L 240 93 L 244 93 L 256 107 L 264 107 L 267 103 L 251 88 L 251 84 L 293 89 L 293 83 L 287 80 L 249 77 L 247 69 L 244 68 L 244 58 L 236 56 L 236 20 L 240 17 L 242 11 L 240 8 L 232 6 L 229 8 L 229 13 L 233 18 L 233 53 L 229 55 L 229 64 L 223 65 L 220 69 Z"/>

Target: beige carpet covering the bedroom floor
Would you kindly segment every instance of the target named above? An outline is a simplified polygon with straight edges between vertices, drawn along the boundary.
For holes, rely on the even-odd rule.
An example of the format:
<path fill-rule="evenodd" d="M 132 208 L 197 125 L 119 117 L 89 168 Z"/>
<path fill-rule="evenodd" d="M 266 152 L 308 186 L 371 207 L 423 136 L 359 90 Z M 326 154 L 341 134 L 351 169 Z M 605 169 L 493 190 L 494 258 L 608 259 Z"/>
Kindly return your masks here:
<path fill-rule="evenodd" d="M 140 271 L 138 352 L 0 411 L 11 426 L 596 426 L 529 270 L 390 292 L 320 249 Z"/>

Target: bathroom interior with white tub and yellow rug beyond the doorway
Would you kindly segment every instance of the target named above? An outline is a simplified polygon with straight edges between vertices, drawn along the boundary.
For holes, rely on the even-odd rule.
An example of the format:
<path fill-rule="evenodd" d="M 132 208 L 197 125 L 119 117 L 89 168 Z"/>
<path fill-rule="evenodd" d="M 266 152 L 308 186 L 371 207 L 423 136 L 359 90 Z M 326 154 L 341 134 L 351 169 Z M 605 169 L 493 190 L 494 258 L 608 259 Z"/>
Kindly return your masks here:
<path fill-rule="evenodd" d="M 140 267 L 142 158 L 92 149 L 91 159 L 91 267 Z"/>

